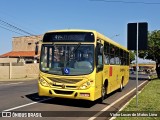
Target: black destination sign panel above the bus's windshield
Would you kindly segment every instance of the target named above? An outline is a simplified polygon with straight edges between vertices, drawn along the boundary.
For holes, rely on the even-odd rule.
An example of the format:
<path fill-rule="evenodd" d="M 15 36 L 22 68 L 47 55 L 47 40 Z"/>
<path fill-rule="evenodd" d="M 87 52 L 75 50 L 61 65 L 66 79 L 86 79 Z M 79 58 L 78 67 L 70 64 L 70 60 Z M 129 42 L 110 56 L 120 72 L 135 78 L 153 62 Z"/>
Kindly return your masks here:
<path fill-rule="evenodd" d="M 92 32 L 52 32 L 46 33 L 43 42 L 94 42 Z"/>

